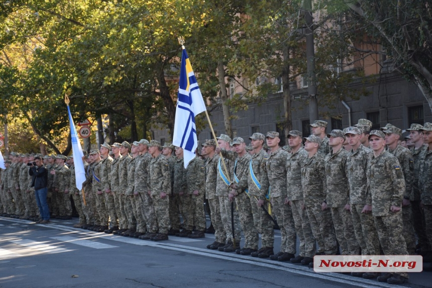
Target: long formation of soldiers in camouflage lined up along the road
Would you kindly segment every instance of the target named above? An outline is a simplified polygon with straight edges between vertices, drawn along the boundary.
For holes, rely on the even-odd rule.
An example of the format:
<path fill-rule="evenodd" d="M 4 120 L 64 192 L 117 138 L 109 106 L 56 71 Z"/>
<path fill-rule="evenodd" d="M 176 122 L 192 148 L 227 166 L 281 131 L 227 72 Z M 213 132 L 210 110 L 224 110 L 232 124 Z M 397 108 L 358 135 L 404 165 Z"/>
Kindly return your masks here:
<path fill-rule="evenodd" d="M 81 191 L 73 156 L 11 152 L 0 170 L 0 215 L 49 224 L 72 219 L 74 207 L 75 228 L 148 241 L 214 233 L 208 249 L 309 267 L 315 255 L 432 262 L 432 123 L 412 124 L 405 138 L 392 124 L 371 127 L 360 119 L 328 132 L 318 120 L 307 137 L 289 131 L 284 147 L 274 131 L 253 133 L 249 145 L 221 134 L 205 140 L 186 168 L 183 149 L 170 143 L 103 143 L 84 152 Z M 407 273 L 351 275 L 408 281 Z"/>

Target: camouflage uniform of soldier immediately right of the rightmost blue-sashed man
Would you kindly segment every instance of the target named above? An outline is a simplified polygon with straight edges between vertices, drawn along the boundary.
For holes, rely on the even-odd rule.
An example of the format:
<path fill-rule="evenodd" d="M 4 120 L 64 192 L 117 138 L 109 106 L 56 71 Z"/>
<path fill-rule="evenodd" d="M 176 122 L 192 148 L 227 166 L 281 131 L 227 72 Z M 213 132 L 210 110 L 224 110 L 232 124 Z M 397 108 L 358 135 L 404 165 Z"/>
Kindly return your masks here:
<path fill-rule="evenodd" d="M 275 152 L 271 152 L 267 160 L 267 175 L 270 184 L 272 211 L 277 218 L 282 237 L 280 251 L 295 254 L 297 243 L 295 223 L 292 218 L 291 206 L 285 204 L 287 197 L 286 159 L 288 154 L 280 147 Z"/>

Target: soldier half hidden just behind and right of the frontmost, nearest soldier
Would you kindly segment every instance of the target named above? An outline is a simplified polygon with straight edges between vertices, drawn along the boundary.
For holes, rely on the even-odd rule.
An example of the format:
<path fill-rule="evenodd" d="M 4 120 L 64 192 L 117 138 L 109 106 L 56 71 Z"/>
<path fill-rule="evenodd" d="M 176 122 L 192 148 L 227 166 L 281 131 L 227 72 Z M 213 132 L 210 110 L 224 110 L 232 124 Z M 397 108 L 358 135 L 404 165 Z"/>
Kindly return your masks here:
<path fill-rule="evenodd" d="M 412 222 L 412 209 L 410 200 L 413 198 L 412 183 L 414 181 L 414 160 L 411 152 L 398 144 L 398 140 L 402 136 L 402 130 L 387 124 L 387 128 L 381 128 L 385 133 L 385 143 L 387 151 L 393 154 L 400 163 L 400 168 L 405 178 L 405 195 L 402 200 L 402 220 L 403 220 L 403 238 L 406 242 L 406 249 L 410 255 L 415 254 L 415 232 Z"/>

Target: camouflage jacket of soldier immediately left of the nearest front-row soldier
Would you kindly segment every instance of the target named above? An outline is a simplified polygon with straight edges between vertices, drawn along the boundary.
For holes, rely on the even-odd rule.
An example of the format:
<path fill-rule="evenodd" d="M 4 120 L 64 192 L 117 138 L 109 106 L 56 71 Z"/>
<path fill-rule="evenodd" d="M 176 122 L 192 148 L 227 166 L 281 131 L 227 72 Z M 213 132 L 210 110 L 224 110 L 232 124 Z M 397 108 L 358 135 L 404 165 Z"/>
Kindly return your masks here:
<path fill-rule="evenodd" d="M 351 150 L 347 158 L 348 184 L 350 185 L 350 204 L 372 205 L 366 172 L 373 152 L 360 145 L 356 151 Z"/>

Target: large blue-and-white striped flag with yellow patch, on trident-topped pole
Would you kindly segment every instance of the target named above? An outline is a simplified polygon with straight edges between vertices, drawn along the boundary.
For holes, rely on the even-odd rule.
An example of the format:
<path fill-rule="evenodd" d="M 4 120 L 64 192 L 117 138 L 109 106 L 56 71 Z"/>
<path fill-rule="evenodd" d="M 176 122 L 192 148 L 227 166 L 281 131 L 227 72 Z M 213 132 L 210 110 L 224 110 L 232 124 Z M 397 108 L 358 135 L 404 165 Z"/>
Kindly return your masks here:
<path fill-rule="evenodd" d="M 195 149 L 198 146 L 195 116 L 205 110 L 204 100 L 196 82 L 192 65 L 190 65 L 186 49 L 183 48 L 172 144 L 183 148 L 185 168 L 195 157 Z"/>

